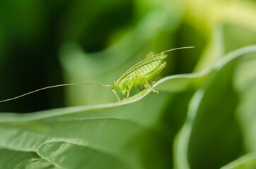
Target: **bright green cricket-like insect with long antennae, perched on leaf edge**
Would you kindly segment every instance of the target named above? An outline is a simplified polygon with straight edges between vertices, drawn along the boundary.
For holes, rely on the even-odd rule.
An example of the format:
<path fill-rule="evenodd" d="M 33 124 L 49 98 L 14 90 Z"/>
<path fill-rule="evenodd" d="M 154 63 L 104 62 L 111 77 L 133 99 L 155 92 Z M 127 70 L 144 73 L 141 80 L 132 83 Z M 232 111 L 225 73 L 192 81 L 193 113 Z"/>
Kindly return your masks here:
<path fill-rule="evenodd" d="M 32 94 L 35 92 L 39 92 L 40 90 L 43 89 L 50 89 L 54 87 L 62 87 L 62 86 L 69 86 L 69 85 L 95 85 L 95 86 L 103 86 L 103 87 L 111 87 L 112 92 L 115 94 L 117 99 L 120 101 L 120 97 L 118 94 L 115 92 L 115 89 L 118 89 L 122 94 L 127 94 L 124 99 L 129 98 L 129 93 L 131 92 L 132 87 L 137 87 L 139 84 L 144 84 L 144 87 L 147 87 L 151 89 L 152 92 L 158 93 L 155 89 L 151 87 L 151 84 L 149 83 L 151 80 L 153 80 L 156 75 L 158 75 L 163 68 L 166 66 L 166 62 L 164 61 L 167 55 L 165 55 L 165 52 L 168 51 L 174 51 L 178 49 L 191 49 L 194 48 L 194 46 L 187 46 L 187 47 L 180 47 L 180 48 L 175 48 L 175 49 L 169 49 L 167 51 L 162 51 L 159 54 L 153 54 L 152 52 L 149 53 L 146 58 L 139 63 L 136 63 L 135 65 L 132 66 L 132 68 L 129 68 L 124 74 L 121 75 L 117 80 L 115 80 L 113 85 L 108 85 L 108 84 L 93 84 L 93 83 L 69 83 L 69 84 L 58 84 L 50 87 L 43 87 L 41 89 L 34 90 L 32 92 L 28 92 L 26 94 L 22 94 L 21 96 L 16 96 L 11 99 L 6 99 L 4 101 L 11 101 L 14 99 L 18 99 L 22 96 Z"/>

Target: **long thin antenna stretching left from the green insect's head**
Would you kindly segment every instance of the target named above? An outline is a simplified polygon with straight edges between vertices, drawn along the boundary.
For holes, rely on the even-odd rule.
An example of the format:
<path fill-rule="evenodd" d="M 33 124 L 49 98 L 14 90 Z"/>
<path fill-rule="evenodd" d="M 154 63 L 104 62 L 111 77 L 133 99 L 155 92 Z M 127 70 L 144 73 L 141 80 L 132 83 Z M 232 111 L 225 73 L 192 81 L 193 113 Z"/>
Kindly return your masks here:
<path fill-rule="evenodd" d="M 14 99 L 18 99 L 22 96 L 26 96 L 28 94 L 33 94 L 35 92 L 39 92 L 40 90 L 44 90 L 44 89 L 50 89 L 50 88 L 54 88 L 54 87 L 63 87 L 63 86 L 71 86 L 71 85 L 94 85 L 94 86 L 103 86 L 103 87 L 112 87 L 112 85 L 107 85 L 107 84 L 93 84 L 93 83 L 68 83 L 68 84 L 58 84 L 58 85 L 54 85 L 54 86 L 50 86 L 50 87 L 43 87 L 41 89 L 37 89 L 37 90 L 34 90 L 32 92 L 28 92 L 26 94 L 22 94 L 21 96 L 16 96 L 16 97 L 13 97 L 11 99 L 6 99 L 6 100 L 2 100 L 0 101 L 0 103 L 4 102 L 4 101 L 11 101 L 11 100 L 14 100 Z"/>

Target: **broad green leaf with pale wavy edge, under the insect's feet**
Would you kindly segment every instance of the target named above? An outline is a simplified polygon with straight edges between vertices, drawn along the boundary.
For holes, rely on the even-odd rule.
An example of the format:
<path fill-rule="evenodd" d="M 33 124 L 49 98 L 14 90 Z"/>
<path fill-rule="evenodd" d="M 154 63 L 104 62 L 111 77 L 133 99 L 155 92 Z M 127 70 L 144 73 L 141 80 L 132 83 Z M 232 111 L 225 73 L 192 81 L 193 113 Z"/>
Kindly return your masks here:
<path fill-rule="evenodd" d="M 0 147 L 10 151 L 35 152 L 60 168 L 76 168 L 78 165 L 80 168 L 169 168 L 172 165 L 172 138 L 178 129 L 168 130 L 159 119 L 163 119 L 166 113 L 184 110 L 175 108 L 175 105 L 170 110 L 163 107 L 170 100 L 177 104 L 177 96 L 182 96 L 180 92 L 192 92 L 193 87 L 197 88 L 197 80 L 209 73 L 211 76 L 206 84 L 215 85 L 215 81 L 209 82 L 215 77 L 219 80 L 217 75 L 220 73 L 231 73 L 223 69 L 229 69 L 240 56 L 252 51 L 256 51 L 256 46 L 235 51 L 202 72 L 165 77 L 153 85 L 162 91 L 159 95 L 144 89 L 113 104 L 57 108 L 24 115 L 1 113 Z M 226 81 L 221 82 L 225 84 Z M 211 91 L 208 85 L 204 90 L 208 98 L 206 91 Z M 181 97 L 183 104 L 187 104 L 190 96 Z M 181 124 L 182 120 L 176 126 Z"/>

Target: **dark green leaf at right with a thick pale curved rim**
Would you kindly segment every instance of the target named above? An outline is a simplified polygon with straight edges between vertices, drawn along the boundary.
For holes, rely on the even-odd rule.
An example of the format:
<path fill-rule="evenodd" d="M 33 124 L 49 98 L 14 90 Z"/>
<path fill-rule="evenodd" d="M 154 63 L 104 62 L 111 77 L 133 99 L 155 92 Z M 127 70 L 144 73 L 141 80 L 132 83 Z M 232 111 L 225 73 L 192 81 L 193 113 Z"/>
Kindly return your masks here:
<path fill-rule="evenodd" d="M 221 58 L 194 94 L 175 139 L 176 168 L 219 168 L 243 152 L 235 115 L 240 96 L 233 82 L 238 65 L 255 61 L 255 52 L 256 46 L 248 46 Z"/>

